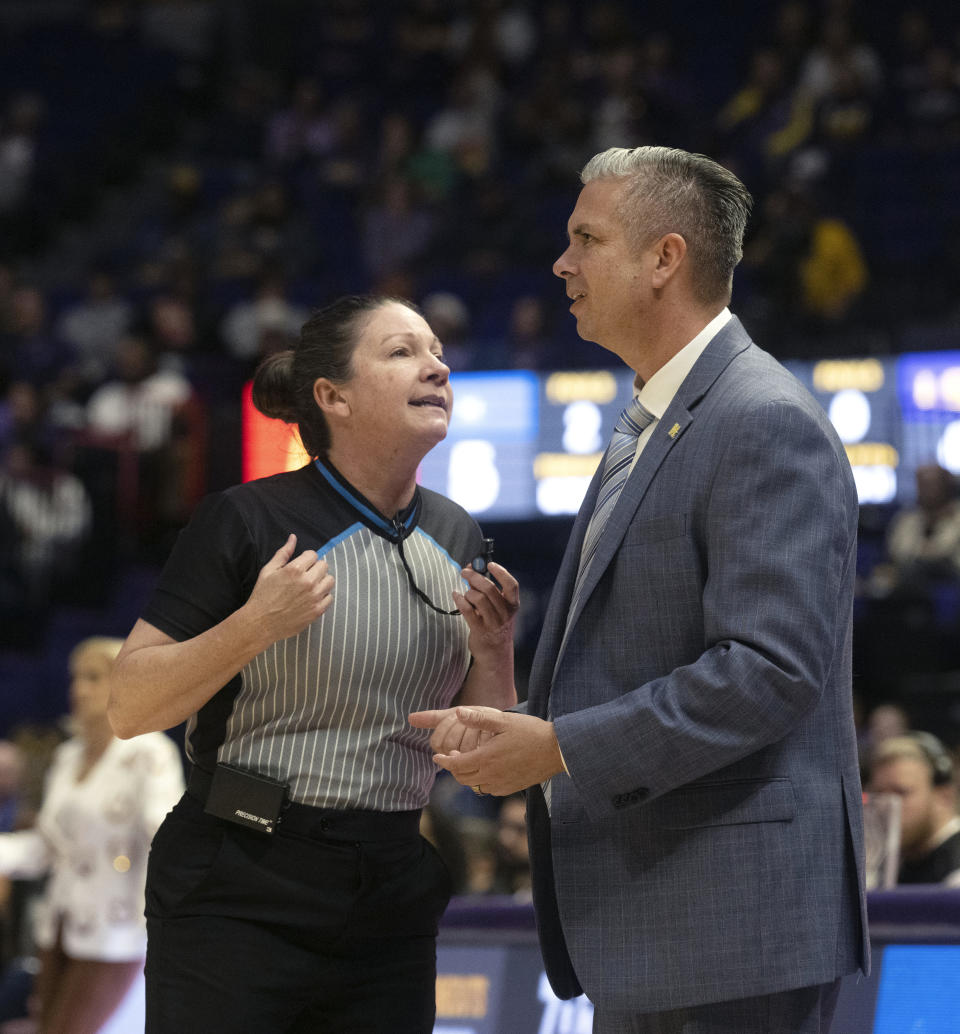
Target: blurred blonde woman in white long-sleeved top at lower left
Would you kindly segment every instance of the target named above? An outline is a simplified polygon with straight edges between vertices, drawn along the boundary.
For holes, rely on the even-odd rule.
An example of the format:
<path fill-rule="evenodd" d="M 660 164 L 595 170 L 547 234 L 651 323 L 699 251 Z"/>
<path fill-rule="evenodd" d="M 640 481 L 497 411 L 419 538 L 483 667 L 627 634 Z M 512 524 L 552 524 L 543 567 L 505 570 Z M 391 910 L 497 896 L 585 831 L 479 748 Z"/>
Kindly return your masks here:
<path fill-rule="evenodd" d="M 35 827 L 0 834 L 0 872 L 50 873 L 34 925 L 44 1034 L 99 1030 L 141 972 L 147 852 L 183 792 L 172 739 L 111 731 L 107 679 L 120 646 L 92 638 L 71 651 L 73 734 L 54 755 Z"/>

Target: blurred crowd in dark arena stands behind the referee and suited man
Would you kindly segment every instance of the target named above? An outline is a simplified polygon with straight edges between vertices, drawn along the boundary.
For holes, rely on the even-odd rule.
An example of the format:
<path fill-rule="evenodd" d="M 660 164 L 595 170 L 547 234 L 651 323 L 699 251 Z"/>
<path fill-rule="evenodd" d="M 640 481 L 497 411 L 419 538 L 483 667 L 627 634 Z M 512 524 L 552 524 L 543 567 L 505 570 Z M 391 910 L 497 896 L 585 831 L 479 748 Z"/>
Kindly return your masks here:
<path fill-rule="evenodd" d="M 5 0 L 0 647 L 39 656 L 71 606 L 124 634 L 118 578 L 240 480 L 243 384 L 336 295 L 414 299 L 455 370 L 613 362 L 550 266 L 586 160 L 648 143 L 754 193 L 733 308 L 779 358 L 960 346 L 949 0 Z M 511 527 L 508 566 L 510 538 L 528 565 L 552 541 Z M 911 728 L 960 743 L 956 479 L 925 467 L 864 539 L 869 774 Z M 0 718 L 9 830 L 63 735 Z M 459 789 L 425 826 L 457 889 L 526 895 L 522 799 Z"/>

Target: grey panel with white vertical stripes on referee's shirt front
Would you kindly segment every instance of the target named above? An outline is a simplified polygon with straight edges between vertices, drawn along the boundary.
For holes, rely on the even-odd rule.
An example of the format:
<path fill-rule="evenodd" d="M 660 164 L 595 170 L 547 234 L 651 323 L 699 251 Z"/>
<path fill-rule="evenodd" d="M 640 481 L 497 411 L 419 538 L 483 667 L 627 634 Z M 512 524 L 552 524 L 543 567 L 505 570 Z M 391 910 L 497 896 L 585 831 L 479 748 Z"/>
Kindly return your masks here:
<path fill-rule="evenodd" d="M 459 565 L 416 528 L 403 542 L 417 585 L 452 609 Z M 470 655 L 459 615 L 438 614 L 408 581 L 398 548 L 362 523 L 319 549 L 331 607 L 242 671 L 219 760 L 288 781 L 320 808 L 420 808 L 436 769 L 413 710 L 446 707 Z"/>

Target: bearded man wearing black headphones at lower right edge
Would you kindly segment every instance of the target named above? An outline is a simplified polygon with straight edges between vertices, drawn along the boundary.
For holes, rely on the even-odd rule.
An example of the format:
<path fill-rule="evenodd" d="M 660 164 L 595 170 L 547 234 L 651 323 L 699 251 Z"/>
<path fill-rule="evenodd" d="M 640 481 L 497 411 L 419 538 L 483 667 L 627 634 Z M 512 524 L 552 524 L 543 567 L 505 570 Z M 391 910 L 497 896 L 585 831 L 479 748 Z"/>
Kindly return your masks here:
<path fill-rule="evenodd" d="M 898 883 L 960 886 L 954 759 L 928 732 L 884 740 L 870 761 L 870 793 L 900 798 Z"/>

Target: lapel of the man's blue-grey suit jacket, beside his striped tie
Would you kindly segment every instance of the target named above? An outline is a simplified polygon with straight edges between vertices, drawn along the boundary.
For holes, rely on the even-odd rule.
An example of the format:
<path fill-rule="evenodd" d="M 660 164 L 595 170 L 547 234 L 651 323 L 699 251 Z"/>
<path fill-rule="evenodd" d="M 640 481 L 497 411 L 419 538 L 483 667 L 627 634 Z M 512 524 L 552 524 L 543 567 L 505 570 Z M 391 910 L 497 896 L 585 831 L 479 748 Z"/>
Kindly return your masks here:
<path fill-rule="evenodd" d="M 593 564 L 591 564 L 590 571 L 583 583 L 583 591 L 579 596 L 579 605 L 577 610 L 570 614 L 571 630 L 576 625 L 593 590 L 603 577 L 604 572 L 620 548 L 627 528 L 630 526 L 640 503 L 651 486 L 654 475 L 670 450 L 683 438 L 684 432 L 693 422 L 697 404 L 732 359 L 750 343 L 750 337 L 744 330 L 743 325 L 737 316 L 732 316 L 703 349 L 703 353 L 684 378 L 673 400 L 654 427 L 653 433 L 643 451 L 640 453 L 636 465 L 627 479 L 620 498 L 617 500 L 617 506 L 607 520 L 606 527 L 597 546 L 597 551 L 594 554 Z M 543 638 L 541 639 L 540 648 L 537 650 L 537 661 L 542 662 L 543 667 L 537 665 L 531 671 L 532 703 L 534 702 L 535 688 L 538 693 L 541 692 L 542 688 L 542 692 L 544 693 L 544 712 L 546 710 L 545 695 L 549 682 L 552 680 L 552 673 L 563 660 L 560 651 L 564 642 L 564 632 L 567 628 L 567 607 L 573 592 L 573 582 L 576 578 L 580 546 L 583 542 L 590 515 L 593 513 L 599 480 L 600 475 L 598 470 L 590 484 L 590 489 L 580 507 L 580 512 L 577 515 L 576 523 L 571 533 L 570 542 L 564 554 L 563 564 L 561 565 L 560 573 L 553 587 L 547 617 L 544 619 Z M 549 627 L 547 626 L 548 620 Z M 550 659 L 552 658 L 556 658 L 556 663 L 551 662 Z M 547 666 L 548 670 L 544 670 Z"/>

